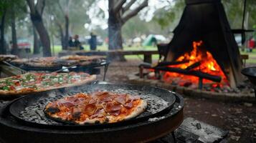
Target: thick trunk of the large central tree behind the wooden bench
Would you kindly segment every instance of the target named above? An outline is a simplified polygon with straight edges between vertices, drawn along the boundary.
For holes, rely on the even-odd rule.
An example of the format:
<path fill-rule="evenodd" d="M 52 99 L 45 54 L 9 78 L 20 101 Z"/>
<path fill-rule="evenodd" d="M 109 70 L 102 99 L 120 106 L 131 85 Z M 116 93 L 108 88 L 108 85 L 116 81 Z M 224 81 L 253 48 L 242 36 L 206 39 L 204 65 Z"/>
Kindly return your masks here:
<path fill-rule="evenodd" d="M 116 14 L 109 12 L 108 18 L 108 49 L 109 50 L 123 50 L 123 40 L 122 40 L 122 22 Z M 123 55 L 114 55 L 110 57 L 111 60 L 125 61 Z"/>

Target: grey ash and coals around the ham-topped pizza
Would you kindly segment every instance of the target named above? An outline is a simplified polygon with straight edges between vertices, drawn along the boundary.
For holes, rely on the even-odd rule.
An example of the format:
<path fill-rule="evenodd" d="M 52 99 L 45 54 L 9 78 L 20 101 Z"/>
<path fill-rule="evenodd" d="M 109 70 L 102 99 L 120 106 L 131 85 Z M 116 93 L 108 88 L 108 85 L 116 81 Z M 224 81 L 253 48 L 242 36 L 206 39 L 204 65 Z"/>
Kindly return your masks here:
<path fill-rule="evenodd" d="M 44 108 L 49 102 L 53 102 L 57 99 L 67 97 L 76 93 L 90 93 L 95 91 L 106 91 L 106 90 L 100 90 L 100 89 L 86 89 L 86 91 L 67 91 L 67 94 L 63 94 L 60 92 L 51 92 L 49 93 L 49 96 L 47 98 L 42 97 L 42 99 L 38 99 L 37 102 L 32 104 L 29 107 L 26 107 L 24 111 L 22 111 L 19 115 L 22 119 L 24 119 L 27 122 L 34 122 L 38 124 L 52 124 L 52 125 L 60 125 L 62 123 L 55 122 L 52 119 L 49 119 L 44 114 Z M 161 97 L 157 97 L 153 94 L 147 94 L 144 92 L 140 92 L 138 90 L 128 90 L 128 89 L 113 89 L 108 90 L 108 92 L 115 92 L 115 93 L 127 93 L 134 96 L 140 96 L 141 99 L 145 99 L 147 102 L 147 108 L 146 111 L 140 114 L 139 117 L 145 117 L 150 114 L 155 114 L 157 112 L 161 112 L 161 110 L 166 109 L 166 107 L 169 107 L 169 102 L 166 102 L 164 99 L 161 99 Z"/>

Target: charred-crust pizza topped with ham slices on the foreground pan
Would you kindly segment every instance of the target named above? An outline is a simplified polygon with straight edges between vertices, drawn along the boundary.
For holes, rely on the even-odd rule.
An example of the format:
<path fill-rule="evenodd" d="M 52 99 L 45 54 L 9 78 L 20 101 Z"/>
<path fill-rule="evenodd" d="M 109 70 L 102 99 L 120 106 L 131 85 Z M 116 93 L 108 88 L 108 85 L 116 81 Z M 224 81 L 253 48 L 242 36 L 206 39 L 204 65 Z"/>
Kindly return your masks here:
<path fill-rule="evenodd" d="M 130 94 L 78 93 L 49 102 L 44 108 L 44 114 L 65 123 L 105 124 L 137 117 L 146 107 L 146 100 Z"/>

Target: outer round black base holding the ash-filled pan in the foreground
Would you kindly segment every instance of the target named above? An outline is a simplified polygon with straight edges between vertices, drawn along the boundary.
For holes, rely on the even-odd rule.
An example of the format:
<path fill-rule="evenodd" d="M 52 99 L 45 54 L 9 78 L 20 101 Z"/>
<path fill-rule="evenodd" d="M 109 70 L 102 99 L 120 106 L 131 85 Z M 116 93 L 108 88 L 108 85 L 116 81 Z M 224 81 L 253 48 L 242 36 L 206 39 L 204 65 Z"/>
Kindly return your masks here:
<path fill-rule="evenodd" d="M 62 143 L 130 143 L 151 142 L 173 132 L 183 121 L 184 99 L 176 93 L 174 107 L 160 117 L 118 127 L 70 128 L 28 126 L 9 113 L 9 106 L 0 107 L 0 142 Z"/>

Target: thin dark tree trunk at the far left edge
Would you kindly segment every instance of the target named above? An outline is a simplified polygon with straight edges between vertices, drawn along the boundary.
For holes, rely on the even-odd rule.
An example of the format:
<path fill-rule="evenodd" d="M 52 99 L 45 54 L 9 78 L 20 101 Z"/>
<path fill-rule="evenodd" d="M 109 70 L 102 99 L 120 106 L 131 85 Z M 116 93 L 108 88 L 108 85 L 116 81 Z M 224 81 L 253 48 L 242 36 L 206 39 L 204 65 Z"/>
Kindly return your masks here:
<path fill-rule="evenodd" d="M 0 26 L 0 54 L 6 54 L 6 47 L 4 44 L 4 22 L 5 22 L 6 11 L 4 11 L 1 16 L 1 26 Z"/>

